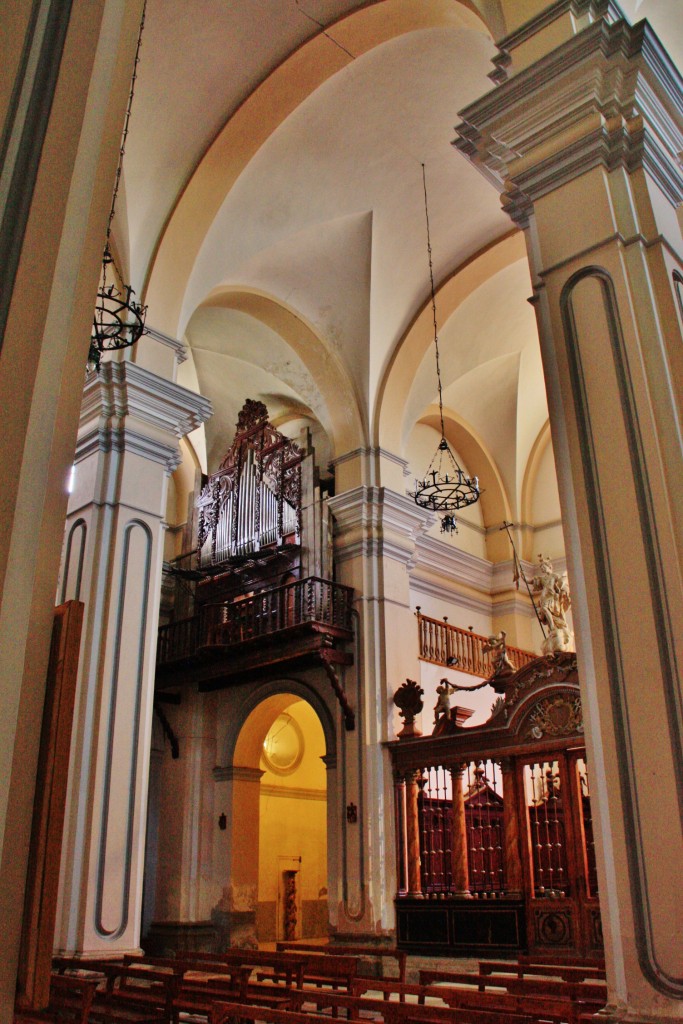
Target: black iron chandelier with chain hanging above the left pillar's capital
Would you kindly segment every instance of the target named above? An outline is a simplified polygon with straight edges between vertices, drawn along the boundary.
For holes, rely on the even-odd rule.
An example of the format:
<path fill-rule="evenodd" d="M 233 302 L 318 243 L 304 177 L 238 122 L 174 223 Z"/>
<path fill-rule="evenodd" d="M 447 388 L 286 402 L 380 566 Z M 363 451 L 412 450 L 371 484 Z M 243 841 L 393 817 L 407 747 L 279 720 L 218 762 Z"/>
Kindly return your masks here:
<path fill-rule="evenodd" d="M 147 307 L 143 306 L 140 302 L 136 302 L 134 298 L 135 292 L 131 286 L 123 283 L 123 275 L 116 265 L 114 254 L 112 252 L 112 222 L 114 221 L 116 201 L 119 195 L 119 185 L 121 183 L 123 158 L 126 152 L 126 138 L 128 136 L 130 111 L 133 105 L 133 95 L 135 92 L 137 65 L 140 59 L 140 43 L 142 41 L 145 10 L 146 0 L 142 6 L 140 28 L 137 34 L 133 75 L 130 80 L 130 93 L 128 95 L 128 105 L 126 108 L 126 117 L 123 124 L 121 148 L 119 150 L 119 164 L 116 172 L 116 180 L 114 182 L 110 217 L 106 224 L 106 239 L 104 242 L 104 252 L 102 254 L 102 271 L 99 290 L 95 300 L 92 333 L 90 335 L 88 370 L 99 370 L 102 352 L 129 348 L 131 345 L 134 345 L 145 332 L 144 317 L 146 315 Z M 112 278 L 114 280 L 111 280 Z"/>

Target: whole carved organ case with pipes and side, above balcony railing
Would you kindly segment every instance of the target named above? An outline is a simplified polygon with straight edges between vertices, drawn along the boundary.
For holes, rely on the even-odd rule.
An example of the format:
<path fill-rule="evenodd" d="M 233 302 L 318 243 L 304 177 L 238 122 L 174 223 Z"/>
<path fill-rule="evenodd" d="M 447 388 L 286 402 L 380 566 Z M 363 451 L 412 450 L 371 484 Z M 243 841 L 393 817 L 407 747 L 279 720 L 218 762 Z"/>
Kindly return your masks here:
<path fill-rule="evenodd" d="M 221 589 L 233 595 L 303 577 L 330 579 L 324 492 L 309 439 L 291 440 L 269 422 L 263 402 L 248 399 L 197 502 L 200 569 L 214 583 L 223 575 Z"/>

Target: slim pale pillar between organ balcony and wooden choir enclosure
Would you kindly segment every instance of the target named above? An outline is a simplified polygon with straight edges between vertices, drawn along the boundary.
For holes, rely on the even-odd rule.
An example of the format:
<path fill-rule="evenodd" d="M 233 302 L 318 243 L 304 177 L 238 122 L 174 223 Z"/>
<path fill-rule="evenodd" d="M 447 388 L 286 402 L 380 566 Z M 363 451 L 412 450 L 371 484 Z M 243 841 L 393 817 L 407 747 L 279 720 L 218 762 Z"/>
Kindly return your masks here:
<path fill-rule="evenodd" d="M 393 780 L 382 742 L 399 728 L 391 702 L 407 676 L 418 678 L 417 625 L 409 600 L 408 566 L 429 516 L 405 495 L 362 482 L 379 476 L 377 463 L 402 480 L 404 463 L 380 450 L 337 460 L 338 493 L 330 500 L 335 519 L 335 562 L 340 583 L 355 591 L 358 673 L 356 728 L 344 736 L 347 799 L 358 807 L 357 846 L 347 846 L 347 922 L 339 928 L 368 936 L 394 927 Z M 347 678 L 350 674 L 347 673 Z M 359 706 L 358 706 L 359 705 Z M 357 785 L 357 793 L 353 786 Z M 412 886 L 409 886 L 412 890 Z"/>

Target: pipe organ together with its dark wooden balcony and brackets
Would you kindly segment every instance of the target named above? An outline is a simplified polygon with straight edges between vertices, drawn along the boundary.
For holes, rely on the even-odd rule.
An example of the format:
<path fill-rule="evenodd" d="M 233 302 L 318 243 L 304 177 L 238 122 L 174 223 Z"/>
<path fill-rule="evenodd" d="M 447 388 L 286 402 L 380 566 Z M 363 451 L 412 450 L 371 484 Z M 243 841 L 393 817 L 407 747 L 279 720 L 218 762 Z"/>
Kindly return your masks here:
<path fill-rule="evenodd" d="M 322 665 L 353 715 L 337 668 L 352 664 L 353 591 L 334 583 L 327 507 L 314 453 L 248 400 L 234 439 L 196 504 L 198 550 L 177 578 L 197 583 L 189 615 L 159 629 L 157 687 L 211 690 L 288 668 Z M 196 567 L 195 567 L 196 566 Z"/>

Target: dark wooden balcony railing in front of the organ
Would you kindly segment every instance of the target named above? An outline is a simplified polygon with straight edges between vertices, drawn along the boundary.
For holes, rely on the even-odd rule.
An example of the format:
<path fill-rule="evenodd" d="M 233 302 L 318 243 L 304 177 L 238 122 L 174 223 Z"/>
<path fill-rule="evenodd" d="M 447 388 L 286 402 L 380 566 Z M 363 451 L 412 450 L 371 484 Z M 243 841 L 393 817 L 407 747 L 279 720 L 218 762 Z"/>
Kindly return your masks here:
<path fill-rule="evenodd" d="M 197 615 L 159 628 L 157 665 L 191 657 L 200 647 L 239 644 L 305 623 L 350 633 L 352 596 L 350 587 L 308 577 L 237 601 L 205 604 Z"/>

